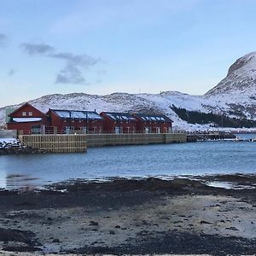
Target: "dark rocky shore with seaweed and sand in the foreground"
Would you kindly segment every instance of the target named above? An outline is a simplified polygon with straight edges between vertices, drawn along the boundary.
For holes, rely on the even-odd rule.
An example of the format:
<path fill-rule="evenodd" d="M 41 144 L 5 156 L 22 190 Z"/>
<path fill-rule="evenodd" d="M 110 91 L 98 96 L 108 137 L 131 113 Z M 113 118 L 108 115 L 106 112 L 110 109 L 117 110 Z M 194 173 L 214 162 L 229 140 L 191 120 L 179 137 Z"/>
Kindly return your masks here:
<path fill-rule="evenodd" d="M 253 255 L 256 175 L 2 189 L 0 255 L 10 252 Z"/>

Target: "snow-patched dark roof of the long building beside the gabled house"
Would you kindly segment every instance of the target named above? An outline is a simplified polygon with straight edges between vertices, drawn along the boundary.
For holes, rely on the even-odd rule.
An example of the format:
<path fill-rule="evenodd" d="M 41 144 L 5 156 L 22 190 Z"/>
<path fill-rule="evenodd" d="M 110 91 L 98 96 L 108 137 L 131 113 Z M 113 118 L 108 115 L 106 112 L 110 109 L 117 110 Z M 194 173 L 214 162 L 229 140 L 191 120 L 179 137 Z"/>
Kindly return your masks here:
<path fill-rule="evenodd" d="M 85 110 L 67 110 L 67 109 L 49 109 L 54 112 L 61 119 L 101 119 L 102 117 L 94 111 Z"/>

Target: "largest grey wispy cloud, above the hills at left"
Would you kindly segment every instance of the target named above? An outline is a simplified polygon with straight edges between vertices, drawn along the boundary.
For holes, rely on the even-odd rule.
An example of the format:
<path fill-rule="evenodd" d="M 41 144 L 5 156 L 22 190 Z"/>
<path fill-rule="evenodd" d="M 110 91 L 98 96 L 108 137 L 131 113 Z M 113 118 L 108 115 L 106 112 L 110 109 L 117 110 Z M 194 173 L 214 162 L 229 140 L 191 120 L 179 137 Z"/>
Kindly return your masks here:
<path fill-rule="evenodd" d="M 49 44 L 20 44 L 20 47 L 28 55 L 43 55 L 50 59 L 64 61 L 64 68 L 56 75 L 55 84 L 86 84 L 82 68 L 89 69 L 101 59 L 90 55 L 75 55 L 70 52 L 57 52 L 55 47 Z"/>

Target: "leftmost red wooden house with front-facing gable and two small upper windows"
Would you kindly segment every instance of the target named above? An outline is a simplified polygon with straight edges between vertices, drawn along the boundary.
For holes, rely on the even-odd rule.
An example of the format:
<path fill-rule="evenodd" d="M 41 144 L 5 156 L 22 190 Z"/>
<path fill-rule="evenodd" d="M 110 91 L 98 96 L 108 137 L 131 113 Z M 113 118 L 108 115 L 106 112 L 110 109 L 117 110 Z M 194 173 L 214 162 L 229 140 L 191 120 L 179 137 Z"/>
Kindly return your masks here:
<path fill-rule="evenodd" d="M 7 129 L 17 130 L 23 134 L 41 134 L 45 132 L 48 119 L 45 113 L 25 103 L 14 112 L 9 113 Z"/>

